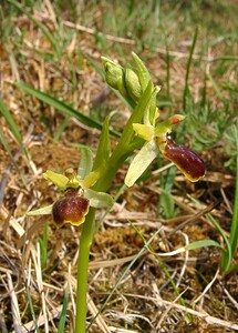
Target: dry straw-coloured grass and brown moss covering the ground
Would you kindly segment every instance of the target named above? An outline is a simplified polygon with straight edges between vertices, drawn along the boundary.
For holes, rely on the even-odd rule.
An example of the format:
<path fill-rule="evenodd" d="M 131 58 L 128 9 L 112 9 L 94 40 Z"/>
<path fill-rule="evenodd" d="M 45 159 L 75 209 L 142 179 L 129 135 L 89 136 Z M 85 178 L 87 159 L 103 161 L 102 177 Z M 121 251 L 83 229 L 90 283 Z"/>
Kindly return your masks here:
<path fill-rule="evenodd" d="M 54 134 L 64 118 L 56 110 L 23 94 L 13 82 L 23 81 L 56 95 L 85 114 L 92 112 L 92 105 L 101 108 L 102 112 L 110 110 L 115 113 L 117 128 L 122 128 L 127 114 L 121 102 L 107 92 L 105 83 L 92 64 L 79 54 L 80 38 L 80 51 L 90 54 L 100 63 L 102 52 L 95 42 L 95 22 L 92 22 L 92 28 L 75 26 L 70 21 L 66 9 L 61 14 L 64 33 L 70 36 L 75 28 L 80 36 L 71 34 L 59 59 L 42 56 L 52 52 L 52 47 L 42 31 L 23 14 L 11 18 L 14 36 L 2 38 L 0 42 L 1 95 L 22 133 L 23 147 L 29 153 L 27 158 L 23 147 L 18 144 L 6 120 L 1 118 L 1 132 L 7 138 L 13 155 L 10 157 L 1 147 L 0 172 L 2 182 L 6 181 L 6 185 L 1 186 L 3 203 L 0 210 L 0 331 L 3 333 L 35 330 L 27 287 L 40 332 L 56 332 L 68 284 L 70 301 L 65 332 L 73 332 L 80 228 L 69 225 L 56 230 L 51 223 L 51 218 L 28 219 L 25 212 L 51 203 L 59 195 L 42 180 L 42 172 L 46 169 L 63 171 L 69 167 L 76 169 L 80 150 L 73 143 L 95 149 L 100 135 L 99 131 L 70 120 L 60 140 L 54 142 Z M 94 18 L 100 24 L 102 14 L 99 8 L 92 20 Z M 59 29 L 50 1 L 44 1 L 35 9 L 34 17 L 50 31 Z M 136 41 L 132 38 L 108 34 L 105 39 L 111 58 L 117 58 L 115 46 L 118 43 L 125 54 L 136 47 Z M 170 51 L 170 90 L 175 104 L 182 95 L 179 85 L 185 77 L 188 51 L 189 46 L 185 40 L 180 41 L 180 49 Z M 158 47 L 156 57 L 149 56 L 148 50 L 144 50 L 139 56 L 148 60 L 149 70 L 164 82 L 166 49 Z M 217 48 L 210 49 L 210 53 L 207 54 L 209 58 L 216 56 Z M 199 54 L 196 53 L 194 59 Z M 79 62 L 81 67 L 77 65 Z M 213 62 L 207 64 L 208 72 L 210 67 Z M 232 69 L 226 72 L 226 78 L 221 81 L 228 77 L 232 79 Z M 203 84 L 199 69 L 193 69 L 190 80 L 196 95 Z M 214 103 L 217 103 L 211 87 L 208 87 L 208 93 L 211 99 L 214 97 Z M 167 109 L 164 108 L 164 111 L 166 113 Z M 159 256 L 159 253 L 174 251 L 195 240 L 219 240 L 205 215 L 206 211 L 203 211 L 217 199 L 221 203 L 213 209 L 213 215 L 225 230 L 229 230 L 235 179 L 231 172 L 224 168 L 224 152 L 220 154 L 221 159 L 217 160 L 219 150 L 220 147 L 215 145 L 213 150 L 204 151 L 203 158 L 208 163 L 209 171 L 198 184 L 190 184 L 177 174 L 173 190 L 176 204 L 174 218 L 157 216 L 162 188 L 156 172 L 147 181 L 125 190 L 113 210 L 104 218 L 92 245 L 89 322 L 96 315 L 122 273 L 125 272 L 125 275 L 117 283 L 115 292 L 90 332 L 238 331 L 237 273 L 220 275 L 220 253 L 217 250 L 203 249 L 175 256 Z M 117 192 L 124 175 L 123 169 L 115 179 L 112 194 Z M 199 204 L 192 202 L 187 193 L 196 198 Z M 103 212 L 99 212 L 97 221 L 102 214 Z M 156 230 L 161 230 L 152 242 L 153 251 L 145 250 L 136 256 L 144 242 L 128 221 L 139 229 L 146 240 L 149 240 Z M 186 221 L 187 224 L 183 224 L 184 228 L 175 232 L 175 228 Z M 46 268 L 42 272 L 39 239 L 45 222 L 49 222 L 49 256 Z M 161 260 L 173 276 L 186 305 L 179 303 L 179 297 L 162 269 Z M 133 265 L 127 270 L 133 261 Z"/>

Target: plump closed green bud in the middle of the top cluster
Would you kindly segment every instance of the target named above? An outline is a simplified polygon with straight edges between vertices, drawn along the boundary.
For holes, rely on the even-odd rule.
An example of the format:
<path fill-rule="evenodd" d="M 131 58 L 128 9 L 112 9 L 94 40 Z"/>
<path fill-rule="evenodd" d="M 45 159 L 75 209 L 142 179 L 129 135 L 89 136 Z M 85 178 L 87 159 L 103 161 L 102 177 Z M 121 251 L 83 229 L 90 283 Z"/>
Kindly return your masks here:
<path fill-rule="evenodd" d="M 125 84 L 130 97 L 137 102 L 142 95 L 142 85 L 139 83 L 138 75 L 130 67 L 125 69 Z"/>

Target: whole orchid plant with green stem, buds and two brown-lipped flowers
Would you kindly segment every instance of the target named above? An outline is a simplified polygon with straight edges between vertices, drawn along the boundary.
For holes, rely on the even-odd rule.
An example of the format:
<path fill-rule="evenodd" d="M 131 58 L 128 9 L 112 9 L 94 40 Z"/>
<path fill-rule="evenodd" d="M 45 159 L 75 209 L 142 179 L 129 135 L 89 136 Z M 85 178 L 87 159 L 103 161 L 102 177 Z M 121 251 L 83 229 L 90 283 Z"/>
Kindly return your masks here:
<path fill-rule="evenodd" d="M 159 153 L 174 162 L 189 181 L 196 182 L 205 175 L 205 164 L 197 153 L 177 145 L 172 139 L 173 127 L 185 117 L 175 114 L 158 121 L 156 98 L 159 87 L 153 84 L 142 60 L 135 53 L 132 56 L 136 67 L 127 64 L 123 68 L 107 58 L 102 58 L 107 84 L 132 109 L 117 145 L 112 151 L 106 118 L 94 160 L 91 150 L 83 148 L 77 173 L 72 169 L 68 169 L 64 174 L 50 170 L 43 173 L 48 181 L 63 191 L 63 198 L 46 208 L 28 213 L 52 213 L 59 228 L 65 223 L 82 224 L 77 261 L 76 333 L 86 332 L 87 268 L 95 229 L 95 209 L 113 205 L 113 199 L 106 191 L 121 165 L 135 153 L 125 176 L 127 186 L 132 186 L 139 179 Z"/>

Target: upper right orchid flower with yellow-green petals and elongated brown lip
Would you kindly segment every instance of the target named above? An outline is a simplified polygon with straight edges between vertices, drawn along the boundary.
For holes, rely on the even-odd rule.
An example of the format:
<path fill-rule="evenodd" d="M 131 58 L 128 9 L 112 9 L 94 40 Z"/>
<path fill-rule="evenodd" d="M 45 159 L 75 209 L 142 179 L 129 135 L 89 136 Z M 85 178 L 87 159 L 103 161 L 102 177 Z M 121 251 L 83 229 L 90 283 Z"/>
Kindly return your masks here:
<path fill-rule="evenodd" d="M 205 163 L 199 155 L 186 147 L 177 145 L 170 137 L 172 127 L 184 119 L 184 115 L 175 114 L 155 127 L 133 124 L 135 133 L 145 140 L 145 144 L 130 164 L 125 178 L 127 186 L 135 183 L 159 152 L 174 162 L 189 181 L 196 182 L 205 175 Z"/>

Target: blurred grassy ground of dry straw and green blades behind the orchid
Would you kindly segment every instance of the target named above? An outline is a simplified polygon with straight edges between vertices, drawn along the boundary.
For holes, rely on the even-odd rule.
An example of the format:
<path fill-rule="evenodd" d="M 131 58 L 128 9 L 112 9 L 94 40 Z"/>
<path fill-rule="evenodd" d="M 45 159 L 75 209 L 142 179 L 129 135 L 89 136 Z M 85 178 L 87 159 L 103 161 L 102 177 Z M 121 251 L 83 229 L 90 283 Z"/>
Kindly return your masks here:
<path fill-rule="evenodd" d="M 161 118 L 187 115 L 174 137 L 199 152 L 207 173 L 189 183 L 158 157 L 143 181 L 125 189 L 124 165 L 111 189 L 113 210 L 97 214 L 89 331 L 238 330 L 237 271 L 221 274 L 220 251 L 163 261 L 156 254 L 204 239 L 223 244 L 213 219 L 229 236 L 238 204 L 237 12 L 235 0 L 1 2 L 2 332 L 58 332 L 63 302 L 63 330 L 73 332 L 80 228 L 56 230 L 51 216 L 27 219 L 25 212 L 60 198 L 42 172 L 76 169 L 80 147 L 95 150 L 107 114 L 116 142 L 130 110 L 104 83 L 100 58 L 125 64 L 132 51 L 162 87 Z M 146 241 L 149 251 L 142 251 Z"/>

